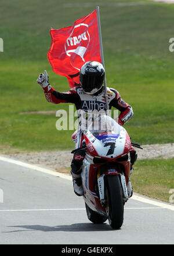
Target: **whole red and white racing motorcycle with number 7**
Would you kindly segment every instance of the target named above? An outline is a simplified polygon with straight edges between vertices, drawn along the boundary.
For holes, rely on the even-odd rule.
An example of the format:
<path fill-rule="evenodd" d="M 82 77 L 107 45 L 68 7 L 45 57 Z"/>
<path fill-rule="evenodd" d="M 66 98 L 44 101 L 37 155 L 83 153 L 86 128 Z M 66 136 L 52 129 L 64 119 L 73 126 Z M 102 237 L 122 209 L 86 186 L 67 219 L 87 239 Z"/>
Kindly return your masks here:
<path fill-rule="evenodd" d="M 99 117 L 95 122 L 97 125 L 92 123 L 84 131 L 80 148 L 86 151 L 81 172 L 86 214 L 93 223 L 108 219 L 111 228 L 119 229 L 128 201 L 131 140 L 125 128 L 110 116 Z M 133 146 L 140 147 L 135 143 Z"/>

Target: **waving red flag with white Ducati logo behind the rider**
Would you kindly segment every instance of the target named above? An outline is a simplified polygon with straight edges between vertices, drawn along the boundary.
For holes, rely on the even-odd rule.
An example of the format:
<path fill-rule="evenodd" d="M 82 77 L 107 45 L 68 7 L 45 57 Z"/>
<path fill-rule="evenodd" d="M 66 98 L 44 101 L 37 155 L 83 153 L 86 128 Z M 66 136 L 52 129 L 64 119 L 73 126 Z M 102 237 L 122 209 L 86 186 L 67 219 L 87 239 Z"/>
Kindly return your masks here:
<path fill-rule="evenodd" d="M 71 27 L 51 29 L 50 34 L 49 63 L 55 73 L 68 78 L 71 88 L 79 85 L 79 70 L 85 62 L 102 63 L 96 10 Z"/>

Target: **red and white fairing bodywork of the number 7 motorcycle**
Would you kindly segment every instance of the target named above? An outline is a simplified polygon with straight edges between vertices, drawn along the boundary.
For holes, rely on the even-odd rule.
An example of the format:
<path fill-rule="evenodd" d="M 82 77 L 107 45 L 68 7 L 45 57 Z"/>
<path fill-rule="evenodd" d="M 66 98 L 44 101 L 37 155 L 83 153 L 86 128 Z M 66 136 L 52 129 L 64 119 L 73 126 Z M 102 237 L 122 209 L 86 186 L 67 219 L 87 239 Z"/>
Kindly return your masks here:
<path fill-rule="evenodd" d="M 109 116 L 100 117 L 99 125 L 106 129 L 84 132 L 86 156 L 81 178 L 85 203 L 100 214 L 106 212 L 104 176 L 119 175 L 124 201 L 128 200 L 127 186 L 131 167 L 131 140 L 124 127 Z"/>

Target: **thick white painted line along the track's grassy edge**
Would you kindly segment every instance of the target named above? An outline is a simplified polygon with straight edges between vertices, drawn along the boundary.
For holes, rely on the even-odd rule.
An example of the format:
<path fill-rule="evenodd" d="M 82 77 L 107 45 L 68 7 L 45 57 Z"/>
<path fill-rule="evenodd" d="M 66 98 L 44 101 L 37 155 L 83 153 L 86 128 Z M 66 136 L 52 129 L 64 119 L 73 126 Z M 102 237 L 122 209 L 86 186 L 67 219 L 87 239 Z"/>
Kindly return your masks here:
<path fill-rule="evenodd" d="M 17 164 L 17 165 L 20 165 L 22 167 L 26 167 L 26 168 L 29 168 L 29 169 L 32 169 L 32 170 L 44 172 L 46 174 L 50 174 L 50 175 L 54 175 L 54 176 L 59 176 L 60 178 L 68 179 L 68 180 L 72 181 L 72 178 L 71 178 L 70 175 L 62 174 L 60 172 L 51 171 L 51 170 L 48 170 L 48 169 L 43 168 L 43 167 L 39 167 L 39 166 L 34 165 L 34 164 L 24 163 L 22 161 L 14 160 L 12 158 L 3 157 L 3 156 L 0 156 L 0 161 L 5 161 L 5 162 L 11 163 L 11 164 Z M 153 204 L 153 205 L 156 205 L 157 207 L 166 208 L 166 209 L 174 211 L 174 205 L 172 205 L 172 204 L 162 203 L 161 201 L 148 199 L 146 197 L 137 196 L 135 194 L 133 194 L 133 196 L 131 197 L 131 200 L 132 199 L 136 200 L 136 201 L 140 201 L 142 203 Z"/>

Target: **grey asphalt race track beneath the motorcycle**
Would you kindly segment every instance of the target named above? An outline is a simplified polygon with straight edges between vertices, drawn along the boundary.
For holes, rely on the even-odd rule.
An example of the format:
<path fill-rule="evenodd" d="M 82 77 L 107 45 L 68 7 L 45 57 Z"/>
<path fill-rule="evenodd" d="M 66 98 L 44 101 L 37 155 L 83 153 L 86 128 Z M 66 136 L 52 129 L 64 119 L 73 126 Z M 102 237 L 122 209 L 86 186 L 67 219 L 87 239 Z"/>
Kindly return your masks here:
<path fill-rule="evenodd" d="M 0 156 L 0 244 L 173 244 L 173 205 L 134 195 L 113 230 L 88 221 L 72 181 L 58 175 Z"/>

